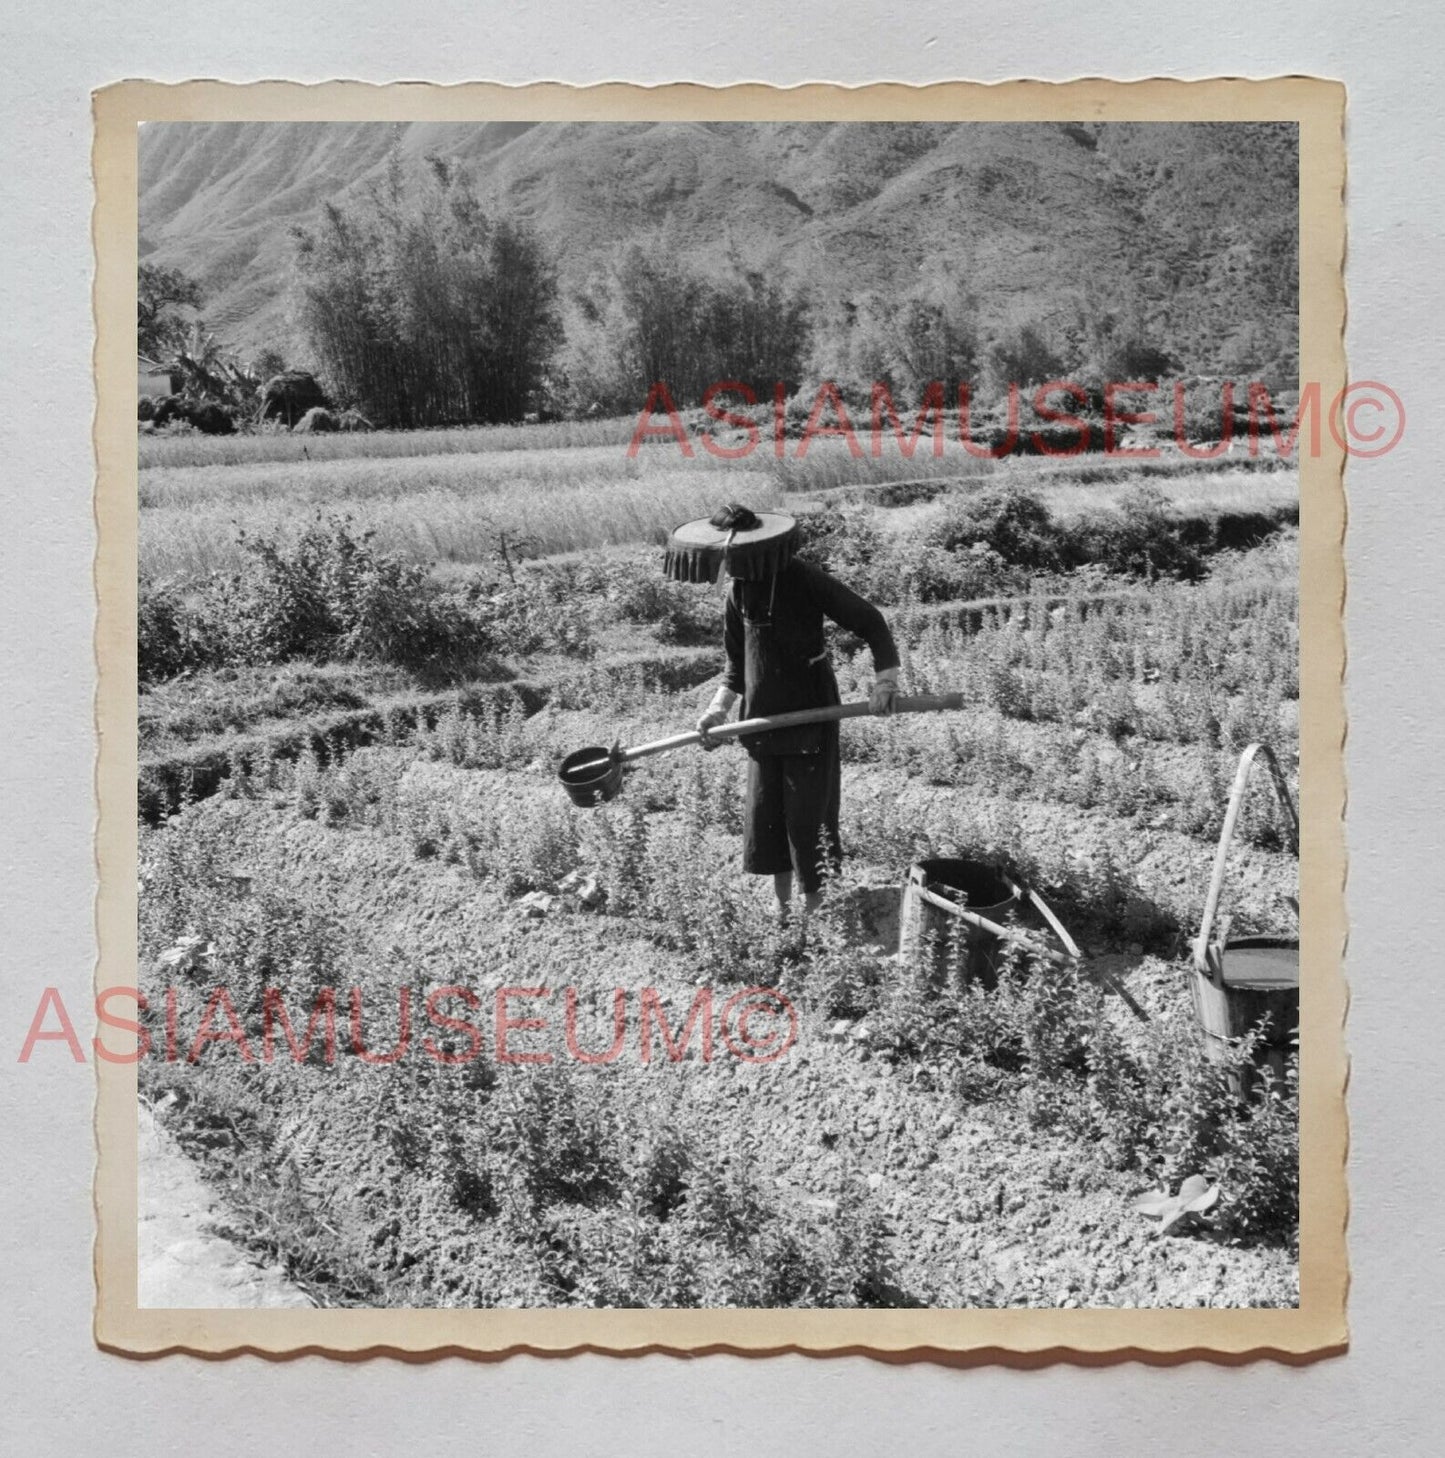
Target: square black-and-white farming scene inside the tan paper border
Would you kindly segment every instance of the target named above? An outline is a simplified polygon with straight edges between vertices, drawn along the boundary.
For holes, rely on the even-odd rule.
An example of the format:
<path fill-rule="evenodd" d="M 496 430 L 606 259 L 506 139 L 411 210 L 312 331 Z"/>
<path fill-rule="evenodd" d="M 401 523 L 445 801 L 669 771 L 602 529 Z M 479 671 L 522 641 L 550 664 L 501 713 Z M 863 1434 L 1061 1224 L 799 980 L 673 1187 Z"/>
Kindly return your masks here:
<path fill-rule="evenodd" d="M 1299 1305 L 1293 121 L 136 146 L 140 1308 Z"/>

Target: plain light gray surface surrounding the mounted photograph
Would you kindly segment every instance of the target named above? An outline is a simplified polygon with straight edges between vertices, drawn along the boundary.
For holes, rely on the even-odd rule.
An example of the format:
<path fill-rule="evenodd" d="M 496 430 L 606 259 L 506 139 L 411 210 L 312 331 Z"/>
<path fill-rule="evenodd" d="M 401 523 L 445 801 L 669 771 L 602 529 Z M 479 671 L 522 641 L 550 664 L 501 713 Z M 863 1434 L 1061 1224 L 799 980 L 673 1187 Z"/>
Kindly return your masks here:
<path fill-rule="evenodd" d="M 875 16 L 812 0 L 630 0 L 564 17 L 525 0 L 20 3 L 0 17 L 0 1446 L 1271 1458 L 1438 1446 L 1445 574 L 1430 426 L 1442 398 L 1445 139 L 1435 7 L 1035 0 Z M 1404 443 L 1349 478 L 1350 1354 L 1302 1369 L 1015 1372 L 802 1357 L 408 1366 L 98 1353 L 90 1070 L 57 1044 L 16 1061 L 45 986 L 86 1006 L 93 954 L 90 89 L 127 76 L 787 85 L 1161 73 L 1349 85 L 1350 373 L 1391 383 L 1411 416 Z"/>

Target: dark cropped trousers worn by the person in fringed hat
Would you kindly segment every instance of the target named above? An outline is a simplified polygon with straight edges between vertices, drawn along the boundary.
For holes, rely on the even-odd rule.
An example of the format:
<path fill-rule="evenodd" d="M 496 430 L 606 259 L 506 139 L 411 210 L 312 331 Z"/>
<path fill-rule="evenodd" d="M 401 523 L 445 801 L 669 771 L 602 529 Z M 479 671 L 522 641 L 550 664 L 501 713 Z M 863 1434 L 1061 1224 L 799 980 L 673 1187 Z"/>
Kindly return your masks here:
<path fill-rule="evenodd" d="M 748 760 L 742 869 L 761 876 L 792 870 L 818 891 L 843 857 L 838 837 L 841 773 L 838 726 L 822 725 L 817 754 L 760 754 Z"/>

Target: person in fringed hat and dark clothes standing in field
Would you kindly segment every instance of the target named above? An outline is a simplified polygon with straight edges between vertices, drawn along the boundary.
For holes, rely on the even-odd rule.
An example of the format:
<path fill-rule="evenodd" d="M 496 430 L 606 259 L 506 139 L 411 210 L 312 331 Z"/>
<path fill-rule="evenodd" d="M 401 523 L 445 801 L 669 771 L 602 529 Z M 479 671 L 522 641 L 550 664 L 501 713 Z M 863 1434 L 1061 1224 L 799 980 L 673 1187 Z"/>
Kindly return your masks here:
<path fill-rule="evenodd" d="M 728 574 L 723 643 L 728 672 L 697 729 L 707 735 L 726 723 L 738 698 L 742 719 L 837 704 L 838 684 L 828 662 L 822 621 L 830 618 L 868 643 L 873 655 L 869 709 L 892 713 L 898 695 L 898 650 L 884 615 L 870 602 L 799 561 L 798 523 L 780 513 L 726 506 L 687 522 L 668 541 L 665 572 L 677 582 L 716 582 Z M 793 879 L 803 907 L 821 898 L 827 869 L 841 859 L 838 725 L 799 725 L 744 739 L 748 795 L 744 809 L 742 869 L 773 878 L 786 923 Z M 716 748 L 716 745 L 712 745 Z"/>

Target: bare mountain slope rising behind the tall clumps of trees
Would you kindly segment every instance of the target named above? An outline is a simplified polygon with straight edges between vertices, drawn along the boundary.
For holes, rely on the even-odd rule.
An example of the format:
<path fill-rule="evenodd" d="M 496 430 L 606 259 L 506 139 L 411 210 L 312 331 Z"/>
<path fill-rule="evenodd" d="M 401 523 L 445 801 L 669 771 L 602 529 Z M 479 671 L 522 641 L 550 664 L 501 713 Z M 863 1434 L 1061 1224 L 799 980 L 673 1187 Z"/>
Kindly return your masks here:
<path fill-rule="evenodd" d="M 564 284 L 663 226 L 824 299 L 905 290 L 949 261 L 986 324 L 1129 302 L 1185 367 L 1293 330 L 1296 137 L 1286 124 L 168 122 L 140 136 L 140 254 L 182 268 L 239 348 L 290 337 L 293 225 L 429 155 L 526 219 Z"/>

